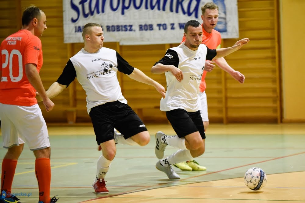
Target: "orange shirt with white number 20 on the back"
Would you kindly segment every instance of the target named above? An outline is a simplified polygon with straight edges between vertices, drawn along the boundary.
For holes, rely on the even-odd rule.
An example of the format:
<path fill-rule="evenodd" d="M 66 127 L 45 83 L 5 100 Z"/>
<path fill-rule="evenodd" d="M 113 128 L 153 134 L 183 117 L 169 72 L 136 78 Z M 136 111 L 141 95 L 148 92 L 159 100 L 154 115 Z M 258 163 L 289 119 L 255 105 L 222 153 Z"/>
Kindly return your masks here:
<path fill-rule="evenodd" d="M 36 90 L 27 79 L 25 64 L 36 64 L 39 73 L 42 66 L 40 39 L 22 29 L 3 40 L 0 50 L 0 102 L 19 106 L 37 104 Z"/>

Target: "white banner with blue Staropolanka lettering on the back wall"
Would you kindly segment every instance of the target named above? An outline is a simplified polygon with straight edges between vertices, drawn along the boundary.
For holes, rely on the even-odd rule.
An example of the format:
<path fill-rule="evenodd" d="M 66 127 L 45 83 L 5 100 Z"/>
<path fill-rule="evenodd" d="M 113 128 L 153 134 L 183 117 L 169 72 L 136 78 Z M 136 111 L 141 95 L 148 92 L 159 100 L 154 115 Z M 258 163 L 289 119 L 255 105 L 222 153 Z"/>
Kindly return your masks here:
<path fill-rule="evenodd" d="M 180 43 L 189 20 L 202 23 L 201 6 L 211 0 L 63 0 L 64 43 L 82 43 L 82 28 L 99 23 L 106 42 L 121 45 Z M 238 38 L 237 0 L 219 6 L 215 28 L 222 38 Z"/>

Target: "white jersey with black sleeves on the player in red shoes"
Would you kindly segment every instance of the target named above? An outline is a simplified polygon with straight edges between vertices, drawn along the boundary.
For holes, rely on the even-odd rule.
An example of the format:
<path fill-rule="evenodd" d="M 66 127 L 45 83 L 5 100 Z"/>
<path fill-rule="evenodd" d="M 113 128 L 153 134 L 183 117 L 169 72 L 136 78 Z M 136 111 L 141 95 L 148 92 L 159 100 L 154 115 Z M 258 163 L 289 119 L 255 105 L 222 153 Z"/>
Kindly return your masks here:
<path fill-rule="evenodd" d="M 88 53 L 81 49 L 70 58 L 56 82 L 68 86 L 77 77 L 86 91 L 89 113 L 91 108 L 111 101 L 127 104 L 117 80 L 117 71 L 129 75 L 134 67 L 115 50 L 102 47 L 96 53 Z"/>

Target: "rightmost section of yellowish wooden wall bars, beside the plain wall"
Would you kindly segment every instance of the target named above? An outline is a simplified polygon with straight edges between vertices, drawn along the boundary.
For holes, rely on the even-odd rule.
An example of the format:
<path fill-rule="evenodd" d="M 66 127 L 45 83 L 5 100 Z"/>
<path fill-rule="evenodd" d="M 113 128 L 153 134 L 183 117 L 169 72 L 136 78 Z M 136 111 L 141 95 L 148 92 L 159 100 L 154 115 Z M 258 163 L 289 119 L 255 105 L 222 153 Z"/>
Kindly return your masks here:
<path fill-rule="evenodd" d="M 238 2 L 240 38 L 249 37 L 250 43 L 227 57 L 235 70 L 246 77 L 239 84 L 228 74 L 225 77 L 227 122 L 277 122 L 279 95 L 277 70 L 279 60 L 276 47 L 274 1 L 243 0 Z M 234 39 L 224 40 L 231 46 Z"/>

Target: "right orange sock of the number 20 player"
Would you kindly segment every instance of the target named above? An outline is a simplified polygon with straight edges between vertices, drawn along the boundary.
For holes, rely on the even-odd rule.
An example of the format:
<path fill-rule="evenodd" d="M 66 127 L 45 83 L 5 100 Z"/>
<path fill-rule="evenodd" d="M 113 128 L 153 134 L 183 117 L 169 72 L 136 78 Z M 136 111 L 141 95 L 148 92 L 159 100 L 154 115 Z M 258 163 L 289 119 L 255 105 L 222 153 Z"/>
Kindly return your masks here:
<path fill-rule="evenodd" d="M 35 174 L 38 181 L 39 201 L 50 203 L 51 165 L 50 159 L 38 158 L 35 161 Z"/>

